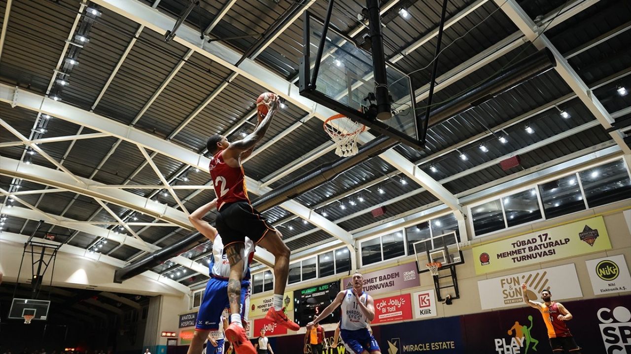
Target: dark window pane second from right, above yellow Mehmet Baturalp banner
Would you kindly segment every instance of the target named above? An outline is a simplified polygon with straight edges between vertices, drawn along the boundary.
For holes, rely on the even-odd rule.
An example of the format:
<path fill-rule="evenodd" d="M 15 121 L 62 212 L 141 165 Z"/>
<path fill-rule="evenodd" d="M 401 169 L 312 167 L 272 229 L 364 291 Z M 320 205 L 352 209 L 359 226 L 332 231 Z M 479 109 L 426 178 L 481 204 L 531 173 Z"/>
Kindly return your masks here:
<path fill-rule="evenodd" d="M 586 209 L 576 174 L 544 183 L 539 191 L 546 219 Z"/>

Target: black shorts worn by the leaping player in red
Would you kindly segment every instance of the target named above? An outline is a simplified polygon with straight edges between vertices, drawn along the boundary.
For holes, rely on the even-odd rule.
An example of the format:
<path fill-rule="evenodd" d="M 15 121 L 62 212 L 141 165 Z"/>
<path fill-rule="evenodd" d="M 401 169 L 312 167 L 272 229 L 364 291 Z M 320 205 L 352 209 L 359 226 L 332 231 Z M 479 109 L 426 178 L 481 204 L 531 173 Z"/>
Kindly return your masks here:
<path fill-rule="evenodd" d="M 257 244 L 269 231 L 274 231 L 268 220 L 245 200 L 224 204 L 215 226 L 224 248 L 231 243 L 245 242 L 246 236 Z"/>

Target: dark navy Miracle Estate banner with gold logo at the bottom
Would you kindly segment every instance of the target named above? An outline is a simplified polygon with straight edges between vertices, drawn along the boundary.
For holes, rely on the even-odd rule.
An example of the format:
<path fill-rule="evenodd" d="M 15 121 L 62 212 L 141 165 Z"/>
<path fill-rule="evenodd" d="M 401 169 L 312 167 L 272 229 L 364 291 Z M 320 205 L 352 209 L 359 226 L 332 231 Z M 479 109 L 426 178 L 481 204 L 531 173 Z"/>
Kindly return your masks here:
<path fill-rule="evenodd" d="M 460 317 L 389 324 L 379 327 L 381 335 L 380 340 L 377 341 L 384 354 L 464 353 Z"/>

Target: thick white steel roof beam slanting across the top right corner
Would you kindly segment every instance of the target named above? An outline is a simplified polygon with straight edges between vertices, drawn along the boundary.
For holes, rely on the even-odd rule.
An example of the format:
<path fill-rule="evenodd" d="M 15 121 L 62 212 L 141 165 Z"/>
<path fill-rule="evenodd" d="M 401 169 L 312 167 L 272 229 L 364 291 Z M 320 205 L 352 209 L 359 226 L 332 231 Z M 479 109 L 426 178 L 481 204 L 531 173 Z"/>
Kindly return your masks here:
<path fill-rule="evenodd" d="M 495 0 L 496 3 L 499 3 L 500 1 L 502 0 Z M 537 49 L 547 48 L 552 52 L 557 60 L 555 70 L 562 77 L 563 81 L 570 86 L 572 91 L 574 91 L 574 93 L 581 99 L 582 103 L 605 129 L 611 128 L 613 118 L 611 118 L 610 113 L 604 108 L 598 98 L 594 96 L 593 91 L 587 87 L 587 84 L 584 83 L 574 68 L 570 66 L 567 59 L 563 57 L 555 45 L 553 45 L 548 37 L 546 37 L 545 33 L 543 33 L 543 30 L 546 29 L 545 26 L 540 27 L 536 25 L 515 0 L 505 0 L 505 4 L 502 6 L 502 11 L 509 16 L 510 20 L 515 23 L 517 28 L 524 33 L 526 38 L 528 38 L 528 40 L 531 41 Z M 620 149 L 625 152 L 625 154 L 631 154 L 631 148 L 625 144 L 623 136 L 619 131 L 615 130 L 610 132 L 610 135 L 616 144 L 620 146 Z"/>

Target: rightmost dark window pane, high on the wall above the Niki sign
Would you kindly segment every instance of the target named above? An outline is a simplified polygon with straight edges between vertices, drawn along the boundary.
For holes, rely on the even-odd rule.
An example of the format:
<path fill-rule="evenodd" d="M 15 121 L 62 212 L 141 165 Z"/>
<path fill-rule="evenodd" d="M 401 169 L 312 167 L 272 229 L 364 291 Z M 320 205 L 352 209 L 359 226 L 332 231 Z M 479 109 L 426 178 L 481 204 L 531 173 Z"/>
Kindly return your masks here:
<path fill-rule="evenodd" d="M 579 177 L 590 208 L 631 198 L 631 180 L 622 160 L 587 169 Z"/>

